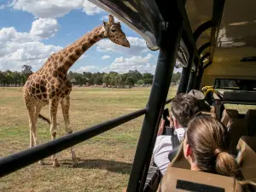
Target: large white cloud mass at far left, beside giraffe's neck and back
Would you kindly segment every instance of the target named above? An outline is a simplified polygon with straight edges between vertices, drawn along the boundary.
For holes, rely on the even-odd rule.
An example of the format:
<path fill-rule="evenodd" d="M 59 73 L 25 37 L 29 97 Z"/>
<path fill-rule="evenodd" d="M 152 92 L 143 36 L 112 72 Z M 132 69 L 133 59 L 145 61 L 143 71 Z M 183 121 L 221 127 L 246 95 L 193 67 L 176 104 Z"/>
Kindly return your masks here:
<path fill-rule="evenodd" d="M 0 69 L 20 71 L 20 67 L 26 64 L 37 70 L 49 55 L 62 49 L 39 42 L 53 37 L 57 28 L 56 20 L 39 19 L 32 23 L 30 32 L 17 32 L 14 27 L 0 29 Z"/>

